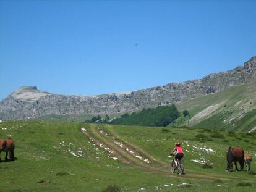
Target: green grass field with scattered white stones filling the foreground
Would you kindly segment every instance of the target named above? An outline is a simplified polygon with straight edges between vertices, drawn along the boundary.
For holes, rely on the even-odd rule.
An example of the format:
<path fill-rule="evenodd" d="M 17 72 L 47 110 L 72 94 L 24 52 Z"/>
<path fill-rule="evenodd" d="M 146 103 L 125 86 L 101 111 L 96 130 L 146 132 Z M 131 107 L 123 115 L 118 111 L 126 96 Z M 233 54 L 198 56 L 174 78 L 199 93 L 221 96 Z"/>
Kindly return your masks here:
<path fill-rule="evenodd" d="M 255 157 L 255 135 L 172 127 L 1 122 L 0 138 L 7 137 L 15 140 L 17 160 L 0 162 L 4 191 L 103 191 L 108 185 L 119 186 L 121 191 L 254 191 L 256 186 L 253 171 L 225 172 L 229 146 L 242 147 Z M 169 171 L 174 141 L 181 141 L 184 148 L 184 175 Z"/>

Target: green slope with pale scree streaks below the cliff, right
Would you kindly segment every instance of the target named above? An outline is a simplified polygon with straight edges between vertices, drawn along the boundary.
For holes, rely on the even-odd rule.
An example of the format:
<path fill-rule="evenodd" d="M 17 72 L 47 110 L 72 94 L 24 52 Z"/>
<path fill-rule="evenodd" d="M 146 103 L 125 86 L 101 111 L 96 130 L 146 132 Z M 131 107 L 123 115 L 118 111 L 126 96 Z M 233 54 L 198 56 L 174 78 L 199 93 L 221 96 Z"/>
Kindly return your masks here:
<path fill-rule="evenodd" d="M 231 87 L 176 104 L 177 109 L 189 110 L 189 117 L 180 117 L 176 125 L 197 128 L 250 131 L 256 127 L 256 82 Z"/>

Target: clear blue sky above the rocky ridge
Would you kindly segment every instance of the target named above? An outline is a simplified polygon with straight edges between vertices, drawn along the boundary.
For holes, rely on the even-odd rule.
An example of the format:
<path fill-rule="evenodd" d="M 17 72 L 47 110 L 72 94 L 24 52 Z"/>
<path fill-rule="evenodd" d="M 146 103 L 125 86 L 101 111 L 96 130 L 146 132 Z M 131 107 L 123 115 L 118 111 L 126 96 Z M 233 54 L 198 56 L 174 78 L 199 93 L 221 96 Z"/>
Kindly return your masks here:
<path fill-rule="evenodd" d="M 256 1 L 0 1 L 0 100 L 134 91 L 256 55 Z"/>

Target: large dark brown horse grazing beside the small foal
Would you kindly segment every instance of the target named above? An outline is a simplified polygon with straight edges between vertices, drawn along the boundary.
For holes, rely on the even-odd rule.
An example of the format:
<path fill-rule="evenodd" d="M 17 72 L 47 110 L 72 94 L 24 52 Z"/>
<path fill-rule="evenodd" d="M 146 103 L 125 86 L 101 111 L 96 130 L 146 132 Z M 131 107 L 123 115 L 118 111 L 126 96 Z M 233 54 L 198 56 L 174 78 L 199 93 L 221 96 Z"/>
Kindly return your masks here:
<path fill-rule="evenodd" d="M 237 168 L 237 161 L 240 164 L 240 170 L 244 169 L 244 149 L 242 148 L 228 148 L 228 152 L 227 152 L 227 161 L 228 161 L 228 166 L 227 169 L 229 172 L 233 169 L 233 161 L 234 164 L 236 165 L 236 170 L 238 170 Z"/>

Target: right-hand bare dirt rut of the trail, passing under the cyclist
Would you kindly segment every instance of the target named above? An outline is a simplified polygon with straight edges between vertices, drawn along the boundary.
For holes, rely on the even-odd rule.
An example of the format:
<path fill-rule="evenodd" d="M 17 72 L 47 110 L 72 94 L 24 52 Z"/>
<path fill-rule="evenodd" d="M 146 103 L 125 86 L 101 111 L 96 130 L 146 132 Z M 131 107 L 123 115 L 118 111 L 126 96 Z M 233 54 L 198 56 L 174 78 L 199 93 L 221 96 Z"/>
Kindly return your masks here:
<path fill-rule="evenodd" d="M 108 131 L 115 137 L 118 138 L 119 135 L 116 133 L 116 131 L 114 131 L 113 127 L 108 127 Z M 120 138 L 120 137 L 119 137 Z M 126 143 L 126 146 L 130 146 L 131 148 L 133 148 L 134 150 L 137 150 L 140 152 L 140 154 L 144 154 L 144 156 L 146 156 L 150 161 L 153 161 L 155 164 L 158 164 L 162 167 L 164 167 L 165 169 L 168 168 L 168 170 L 170 169 L 170 165 L 167 164 L 166 162 L 161 162 L 161 161 L 156 161 L 156 158 L 151 156 L 150 154 L 148 154 L 147 151 L 145 151 L 144 149 L 140 148 L 139 146 L 129 143 L 128 141 L 124 140 L 123 138 L 121 138 L 122 141 L 124 141 L 124 143 Z M 191 173 L 194 176 L 197 177 L 203 177 L 203 178 L 211 178 L 211 179 L 221 179 L 221 180 L 232 180 L 232 179 L 241 179 L 239 177 L 233 177 L 233 176 L 223 176 L 223 175 L 218 175 L 215 173 L 201 173 L 201 172 L 195 172 L 194 170 L 190 170 L 190 169 L 186 169 L 186 173 Z M 256 180 L 254 179 L 248 179 L 249 181 L 255 182 Z"/>

